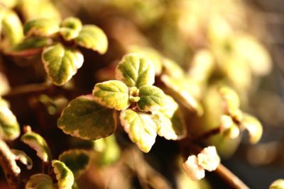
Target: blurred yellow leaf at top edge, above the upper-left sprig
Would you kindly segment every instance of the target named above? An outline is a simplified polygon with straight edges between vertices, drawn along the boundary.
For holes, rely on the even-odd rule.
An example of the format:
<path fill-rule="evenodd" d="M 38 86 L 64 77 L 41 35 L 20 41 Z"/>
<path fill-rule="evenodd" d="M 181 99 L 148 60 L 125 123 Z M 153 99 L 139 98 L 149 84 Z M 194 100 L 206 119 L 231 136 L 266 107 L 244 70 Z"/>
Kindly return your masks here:
<path fill-rule="evenodd" d="M 50 0 L 21 0 L 18 1 L 17 8 L 25 21 L 37 18 L 54 18 L 60 21 L 60 13 Z"/>

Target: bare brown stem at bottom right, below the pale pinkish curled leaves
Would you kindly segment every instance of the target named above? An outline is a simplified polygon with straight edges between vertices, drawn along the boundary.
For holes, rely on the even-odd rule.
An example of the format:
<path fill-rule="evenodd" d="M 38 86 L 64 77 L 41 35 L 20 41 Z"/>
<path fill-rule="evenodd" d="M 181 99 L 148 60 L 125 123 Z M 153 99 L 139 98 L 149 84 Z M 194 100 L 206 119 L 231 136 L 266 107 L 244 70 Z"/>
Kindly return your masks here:
<path fill-rule="evenodd" d="M 234 173 L 229 171 L 224 165 L 220 164 L 215 173 L 219 175 L 231 188 L 234 189 L 249 189 L 249 187 L 243 183 Z"/>

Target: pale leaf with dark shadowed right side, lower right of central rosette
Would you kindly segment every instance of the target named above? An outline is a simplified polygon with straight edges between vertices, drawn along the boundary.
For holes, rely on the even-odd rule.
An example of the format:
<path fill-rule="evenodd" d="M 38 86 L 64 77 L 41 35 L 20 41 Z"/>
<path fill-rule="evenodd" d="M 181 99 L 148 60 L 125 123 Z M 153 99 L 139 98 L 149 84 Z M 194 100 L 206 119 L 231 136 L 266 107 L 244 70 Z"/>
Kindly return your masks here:
<path fill-rule="evenodd" d="M 154 113 L 153 120 L 157 125 L 157 132 L 165 139 L 182 139 L 187 135 L 185 119 L 178 103 L 172 97 L 166 96 L 167 103 Z"/>

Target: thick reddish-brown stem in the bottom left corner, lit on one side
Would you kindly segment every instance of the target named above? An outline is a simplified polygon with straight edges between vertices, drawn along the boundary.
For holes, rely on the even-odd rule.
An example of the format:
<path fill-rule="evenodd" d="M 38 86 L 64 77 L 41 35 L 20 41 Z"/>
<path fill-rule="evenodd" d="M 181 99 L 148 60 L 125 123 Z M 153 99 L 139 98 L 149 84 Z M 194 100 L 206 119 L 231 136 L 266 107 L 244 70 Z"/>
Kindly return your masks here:
<path fill-rule="evenodd" d="M 21 188 L 21 169 L 16 164 L 15 155 L 2 139 L 0 139 L 0 164 L 10 187 Z"/>

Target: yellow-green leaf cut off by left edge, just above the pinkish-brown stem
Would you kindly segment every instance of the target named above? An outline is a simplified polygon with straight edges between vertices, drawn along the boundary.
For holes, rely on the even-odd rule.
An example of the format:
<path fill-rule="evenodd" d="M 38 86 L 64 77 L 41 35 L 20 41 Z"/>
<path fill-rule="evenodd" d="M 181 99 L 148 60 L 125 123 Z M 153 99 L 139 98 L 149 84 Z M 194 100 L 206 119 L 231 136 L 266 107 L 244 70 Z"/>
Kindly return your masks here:
<path fill-rule="evenodd" d="M 0 137 L 5 140 L 16 139 L 20 135 L 20 125 L 9 109 L 8 103 L 0 97 Z"/>

